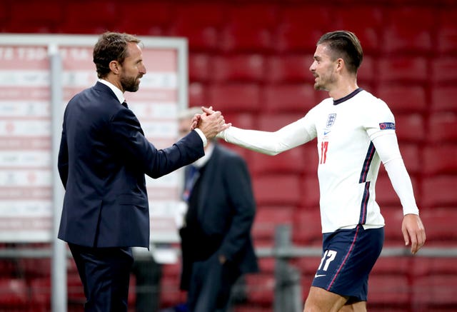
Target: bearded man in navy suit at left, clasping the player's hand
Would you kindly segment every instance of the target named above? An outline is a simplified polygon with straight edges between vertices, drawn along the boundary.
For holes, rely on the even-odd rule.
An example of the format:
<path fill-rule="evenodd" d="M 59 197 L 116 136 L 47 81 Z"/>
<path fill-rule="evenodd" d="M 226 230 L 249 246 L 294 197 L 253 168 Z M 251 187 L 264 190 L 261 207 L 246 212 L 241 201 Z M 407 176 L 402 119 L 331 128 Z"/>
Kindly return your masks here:
<path fill-rule="evenodd" d="M 58 167 L 65 187 L 59 238 L 69 243 L 87 311 L 127 311 L 131 247 L 149 248 L 145 174 L 159 178 L 204 156 L 224 119 L 202 115 L 198 131 L 156 149 L 124 92 L 146 74 L 140 40 L 107 32 L 94 46 L 99 81 L 66 106 Z"/>

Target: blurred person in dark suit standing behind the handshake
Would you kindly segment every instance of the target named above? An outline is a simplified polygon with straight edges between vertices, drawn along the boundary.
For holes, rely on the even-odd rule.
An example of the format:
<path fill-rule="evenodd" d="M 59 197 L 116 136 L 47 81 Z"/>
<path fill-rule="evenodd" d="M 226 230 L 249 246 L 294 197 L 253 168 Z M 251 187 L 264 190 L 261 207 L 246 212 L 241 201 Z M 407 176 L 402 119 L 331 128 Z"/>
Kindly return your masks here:
<path fill-rule="evenodd" d="M 182 135 L 198 111 L 181 113 Z M 189 311 L 226 311 L 236 279 L 258 271 L 251 238 L 256 207 L 246 162 L 210 140 L 205 156 L 186 167 L 184 200 L 181 288 L 189 291 Z"/>

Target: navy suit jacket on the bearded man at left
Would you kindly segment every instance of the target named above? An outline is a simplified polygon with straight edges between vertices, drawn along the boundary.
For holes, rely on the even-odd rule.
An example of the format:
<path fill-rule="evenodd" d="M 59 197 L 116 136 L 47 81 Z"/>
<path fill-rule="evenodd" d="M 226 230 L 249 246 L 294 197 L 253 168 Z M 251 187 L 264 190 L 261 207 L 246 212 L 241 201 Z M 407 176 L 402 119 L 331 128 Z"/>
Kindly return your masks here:
<path fill-rule="evenodd" d="M 156 149 L 108 86 L 66 106 L 58 168 L 65 187 L 59 238 L 89 247 L 149 247 L 145 174 L 159 178 L 204 155 L 196 131 Z"/>

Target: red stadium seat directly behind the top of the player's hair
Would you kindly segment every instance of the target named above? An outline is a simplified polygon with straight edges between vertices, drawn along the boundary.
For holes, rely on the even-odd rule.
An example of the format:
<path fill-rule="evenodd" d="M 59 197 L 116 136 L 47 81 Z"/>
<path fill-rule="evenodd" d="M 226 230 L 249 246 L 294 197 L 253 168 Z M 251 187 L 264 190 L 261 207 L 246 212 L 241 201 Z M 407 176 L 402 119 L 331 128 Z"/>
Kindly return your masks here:
<path fill-rule="evenodd" d="M 383 9 L 378 6 L 341 6 L 334 26 L 335 29 L 348 29 L 356 34 L 364 53 L 376 53 L 381 43 L 379 30 L 384 27 L 382 17 Z"/>

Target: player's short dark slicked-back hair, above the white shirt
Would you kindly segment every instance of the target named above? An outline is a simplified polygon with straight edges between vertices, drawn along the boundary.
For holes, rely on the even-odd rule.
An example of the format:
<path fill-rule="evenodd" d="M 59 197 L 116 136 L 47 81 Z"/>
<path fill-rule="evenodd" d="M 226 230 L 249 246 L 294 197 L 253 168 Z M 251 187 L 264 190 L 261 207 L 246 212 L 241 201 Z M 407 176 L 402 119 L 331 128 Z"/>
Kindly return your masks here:
<path fill-rule="evenodd" d="M 357 73 L 362 64 L 363 50 L 357 36 L 351 31 L 328 32 L 321 36 L 317 44 L 326 44 L 331 50 L 333 59 L 343 59 L 348 71 Z"/>

